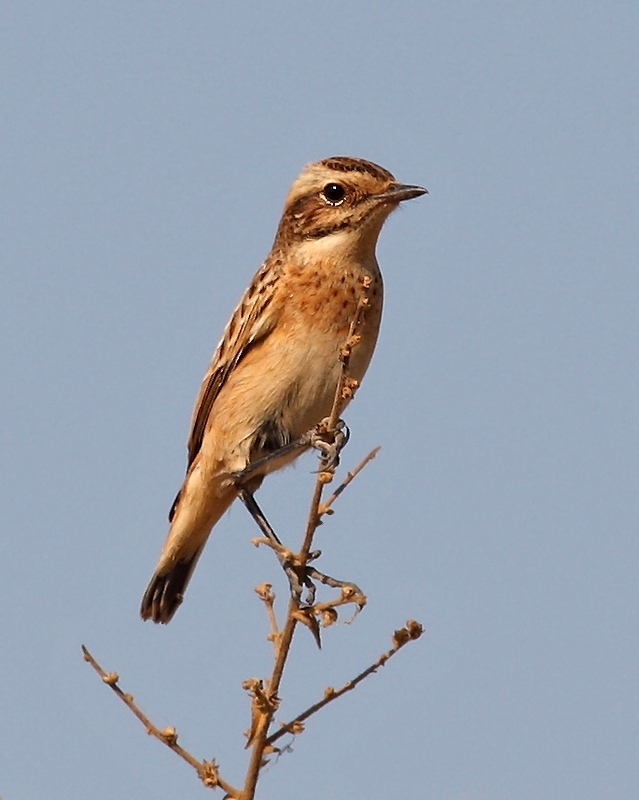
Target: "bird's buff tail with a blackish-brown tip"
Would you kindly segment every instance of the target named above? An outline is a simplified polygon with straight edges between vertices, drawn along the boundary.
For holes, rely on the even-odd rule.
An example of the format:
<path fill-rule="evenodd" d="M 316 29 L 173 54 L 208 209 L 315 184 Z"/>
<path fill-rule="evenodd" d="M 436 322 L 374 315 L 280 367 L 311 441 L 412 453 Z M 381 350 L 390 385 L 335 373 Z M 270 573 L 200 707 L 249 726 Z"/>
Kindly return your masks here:
<path fill-rule="evenodd" d="M 191 504 L 187 496 L 178 496 L 178 504 L 162 555 L 146 588 L 140 616 L 166 625 L 178 610 L 195 565 L 209 537 L 211 528 L 228 509 L 235 493 L 222 493 L 206 509 Z M 173 510 L 173 509 L 172 509 Z"/>

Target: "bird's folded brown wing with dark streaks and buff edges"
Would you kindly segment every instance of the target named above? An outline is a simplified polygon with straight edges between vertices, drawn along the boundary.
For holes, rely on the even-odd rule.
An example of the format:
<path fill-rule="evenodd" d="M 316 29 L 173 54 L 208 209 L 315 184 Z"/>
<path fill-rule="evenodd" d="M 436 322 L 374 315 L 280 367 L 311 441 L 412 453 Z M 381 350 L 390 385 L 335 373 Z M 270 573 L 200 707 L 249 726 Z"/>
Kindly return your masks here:
<path fill-rule="evenodd" d="M 272 301 L 279 273 L 273 262 L 267 260 L 255 274 L 226 326 L 195 403 L 188 441 L 188 467 L 200 451 L 215 398 L 231 371 L 277 323 L 281 308 L 276 308 Z"/>

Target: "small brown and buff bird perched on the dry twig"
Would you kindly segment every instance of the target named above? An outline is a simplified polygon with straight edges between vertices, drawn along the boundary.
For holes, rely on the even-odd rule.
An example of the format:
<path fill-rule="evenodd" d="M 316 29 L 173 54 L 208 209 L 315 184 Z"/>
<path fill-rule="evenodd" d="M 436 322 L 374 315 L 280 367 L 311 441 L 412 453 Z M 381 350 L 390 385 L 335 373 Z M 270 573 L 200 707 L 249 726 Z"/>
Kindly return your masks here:
<path fill-rule="evenodd" d="M 237 473 L 328 416 L 340 349 L 366 294 L 361 339 L 349 365 L 354 379 L 364 376 L 382 315 L 377 238 L 402 200 L 425 193 L 370 161 L 344 156 L 309 164 L 293 183 L 273 249 L 235 309 L 202 383 L 186 478 L 142 600 L 142 619 L 167 623 L 175 614 L 211 529 L 238 496 Z M 265 464 L 251 477 L 251 491 L 300 452 Z"/>

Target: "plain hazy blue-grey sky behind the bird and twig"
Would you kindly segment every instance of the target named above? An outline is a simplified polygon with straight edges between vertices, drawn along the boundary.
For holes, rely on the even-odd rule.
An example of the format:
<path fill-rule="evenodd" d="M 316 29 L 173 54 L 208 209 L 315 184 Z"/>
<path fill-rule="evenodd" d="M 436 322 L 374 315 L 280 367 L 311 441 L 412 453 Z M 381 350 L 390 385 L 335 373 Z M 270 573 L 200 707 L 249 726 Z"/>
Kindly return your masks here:
<path fill-rule="evenodd" d="M 168 627 L 138 618 L 193 402 L 308 161 L 430 194 L 378 248 L 387 300 L 318 536 L 369 606 L 299 632 L 261 798 L 639 797 L 639 4 L 0 7 L 3 800 L 204 798 L 80 657 L 240 783 L 285 584 L 243 508 Z M 312 457 L 263 506 L 297 540 Z M 216 795 L 221 797 L 221 794 Z"/>

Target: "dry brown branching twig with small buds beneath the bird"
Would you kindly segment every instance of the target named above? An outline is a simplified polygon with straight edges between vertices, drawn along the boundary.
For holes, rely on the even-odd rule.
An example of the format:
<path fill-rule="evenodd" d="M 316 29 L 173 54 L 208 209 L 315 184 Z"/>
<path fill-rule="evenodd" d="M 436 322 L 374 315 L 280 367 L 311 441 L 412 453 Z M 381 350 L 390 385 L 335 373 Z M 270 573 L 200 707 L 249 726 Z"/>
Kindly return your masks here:
<path fill-rule="evenodd" d="M 364 286 L 367 289 L 367 286 Z M 352 471 L 348 472 L 344 481 L 333 492 L 333 494 L 322 503 L 322 493 L 324 486 L 333 480 L 335 469 L 339 463 L 339 451 L 346 443 L 348 431 L 344 429 L 343 423 L 339 420 L 339 415 L 348 401 L 357 390 L 358 382 L 349 376 L 349 364 L 351 353 L 358 345 L 360 335 L 358 328 L 362 321 L 362 314 L 368 305 L 368 298 L 364 297 L 357 306 L 354 318 L 351 322 L 347 340 L 340 351 L 341 371 L 339 381 L 335 390 L 333 404 L 329 417 L 317 426 L 314 433 L 313 444 L 321 450 L 320 466 L 315 480 L 315 487 L 310 503 L 308 519 L 304 531 L 302 545 L 298 553 L 290 551 L 288 548 L 269 539 L 254 540 L 256 544 L 267 544 L 273 548 L 280 562 L 292 564 L 299 575 L 303 576 L 302 582 L 309 588 L 310 599 L 303 605 L 297 597 L 291 597 L 288 603 L 286 619 L 283 626 L 278 624 L 274 601 L 275 595 L 271 584 L 264 583 L 256 587 L 255 591 L 264 603 L 269 620 L 270 633 L 268 639 L 273 643 L 274 661 L 271 675 L 266 679 L 251 678 L 243 682 L 242 686 L 251 698 L 251 723 L 247 732 L 246 747 L 251 748 L 251 755 L 244 778 L 243 788 L 236 789 L 225 781 L 219 774 L 215 761 L 200 761 L 183 747 L 178 744 L 177 731 L 174 728 L 164 728 L 160 730 L 142 712 L 135 703 L 132 695 L 126 694 L 118 685 L 117 673 L 106 673 L 97 663 L 89 651 L 82 646 L 82 653 L 86 661 L 91 664 L 94 670 L 101 676 L 102 680 L 111 687 L 123 703 L 144 725 L 147 733 L 159 739 L 167 747 L 173 750 L 180 758 L 190 764 L 197 772 L 203 784 L 209 788 L 218 786 L 226 792 L 227 798 L 232 800 L 253 800 L 255 789 L 263 766 L 268 762 L 268 757 L 273 753 L 281 752 L 274 743 L 284 734 L 301 732 L 304 729 L 304 722 L 316 714 L 328 703 L 333 702 L 346 692 L 354 689 L 369 675 L 375 673 L 380 667 L 397 653 L 409 641 L 418 639 L 422 634 L 422 626 L 414 620 L 409 620 L 406 627 L 395 631 L 393 636 L 393 646 L 359 675 L 345 683 L 339 689 L 329 687 L 325 690 L 324 697 L 312 706 L 307 708 L 294 719 L 280 725 L 280 727 L 269 735 L 269 729 L 273 723 L 273 718 L 280 704 L 279 690 L 282 682 L 284 668 L 290 653 L 293 635 L 298 623 L 307 626 L 318 645 L 320 644 L 320 626 L 328 627 L 337 620 L 337 607 L 345 604 L 354 604 L 357 613 L 366 604 L 366 597 L 361 590 L 352 583 L 343 583 L 330 578 L 327 575 L 309 566 L 309 563 L 318 557 L 319 551 L 312 551 L 313 537 L 318 526 L 322 522 L 322 516 L 333 513 L 333 503 L 349 486 L 353 479 L 372 461 L 380 448 L 372 450 L 366 458 Z M 250 509 L 249 509 L 250 510 Z M 261 511 L 260 511 L 261 514 Z M 255 519 L 255 516 L 254 516 Z M 258 521 L 256 519 L 256 521 Z M 260 524 L 258 522 L 258 524 Z M 262 532 L 264 528 L 260 525 Z M 287 573 L 288 574 L 288 573 Z M 315 603 L 315 586 L 313 581 L 317 580 L 333 588 L 340 589 L 340 596 L 333 600 L 322 603 Z"/>

